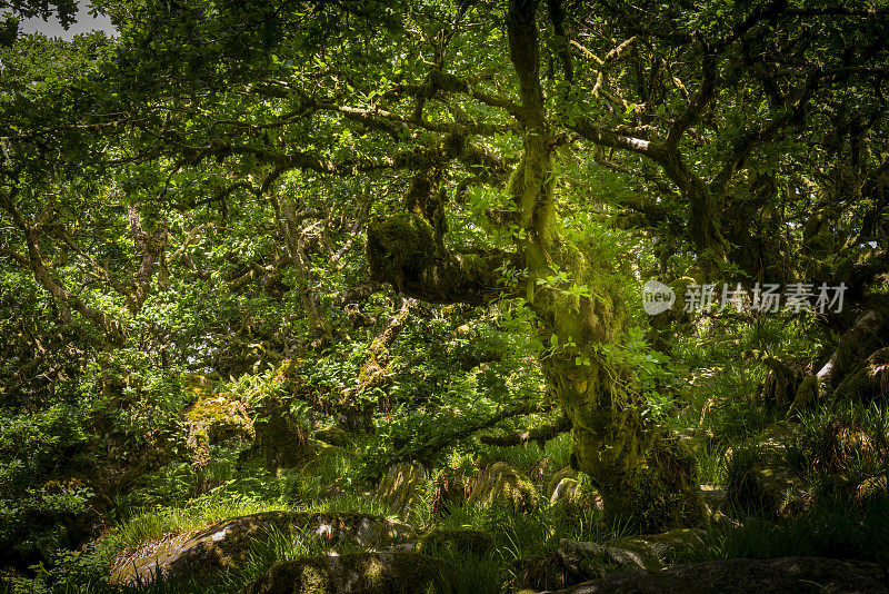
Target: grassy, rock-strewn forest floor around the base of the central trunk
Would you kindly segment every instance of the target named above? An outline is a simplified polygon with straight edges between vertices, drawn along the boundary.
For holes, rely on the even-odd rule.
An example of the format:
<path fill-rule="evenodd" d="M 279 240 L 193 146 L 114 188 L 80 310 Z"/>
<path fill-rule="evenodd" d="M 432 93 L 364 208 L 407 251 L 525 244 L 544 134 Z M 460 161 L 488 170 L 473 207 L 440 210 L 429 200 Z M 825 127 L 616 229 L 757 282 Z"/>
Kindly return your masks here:
<path fill-rule="evenodd" d="M 821 403 L 788 415 L 762 393 L 768 368 L 751 363 L 751 336 L 715 331 L 673 347 L 688 382 L 666 418 L 698 459 L 712 512 L 698 528 L 640 536 L 609 525 L 570 467 L 565 433 L 451 447 L 438 467 L 393 464 L 376 483 L 362 473 L 369 436 L 316 435 L 301 461 L 276 471 L 244 456 L 251 442 L 236 436 L 211 444 L 200 466 L 141 476 L 98 538 L 33 575 L 7 575 L 0 591 L 610 592 L 625 591 L 608 585 L 623 580 L 615 575 L 673 567 L 680 585 L 660 591 L 683 592 L 701 580 L 688 567 L 713 580 L 729 567 L 689 564 L 760 560 L 745 563 L 777 565 L 736 564 L 726 580 L 753 572 L 771 591 L 793 590 L 780 584 L 796 567 L 828 591 L 879 592 L 889 563 L 886 407 Z M 808 557 L 840 561 L 809 567 Z M 846 581 L 831 582 L 837 574 Z M 578 586 L 597 578 L 605 585 Z"/>

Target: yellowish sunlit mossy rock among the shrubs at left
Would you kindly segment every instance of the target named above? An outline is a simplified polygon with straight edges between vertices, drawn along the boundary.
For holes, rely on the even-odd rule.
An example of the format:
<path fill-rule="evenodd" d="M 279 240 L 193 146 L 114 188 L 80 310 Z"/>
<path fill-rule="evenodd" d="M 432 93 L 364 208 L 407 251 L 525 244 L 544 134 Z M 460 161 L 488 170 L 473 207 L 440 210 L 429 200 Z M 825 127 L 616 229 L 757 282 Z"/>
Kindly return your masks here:
<path fill-rule="evenodd" d="M 191 451 L 192 465 L 202 468 L 210 462 L 211 445 L 233 438 L 250 442 L 256 429 L 244 404 L 233 394 L 209 389 L 196 393 L 198 400 L 184 413 L 186 445 Z"/>

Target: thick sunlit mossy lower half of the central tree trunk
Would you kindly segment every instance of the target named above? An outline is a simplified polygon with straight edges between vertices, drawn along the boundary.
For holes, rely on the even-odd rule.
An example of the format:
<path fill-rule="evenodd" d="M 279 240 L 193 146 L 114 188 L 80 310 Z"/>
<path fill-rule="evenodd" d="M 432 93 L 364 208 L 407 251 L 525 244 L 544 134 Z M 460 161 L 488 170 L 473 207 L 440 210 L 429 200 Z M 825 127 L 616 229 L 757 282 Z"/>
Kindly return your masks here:
<path fill-rule="evenodd" d="M 699 522 L 705 508 L 695 459 L 676 436 L 645 415 L 647 403 L 632 369 L 608 356 L 617 352 L 627 324 L 611 263 L 599 261 L 595 246 L 581 248 L 561 238 L 555 222 L 530 237 L 525 248 L 531 305 L 541 338 L 555 345 L 540 364 L 571 420 L 578 469 L 599 489 L 606 514 L 635 529 Z M 533 265 L 538 253 L 546 258 Z M 547 278 L 557 268 L 570 271 L 590 296 L 551 286 Z"/>

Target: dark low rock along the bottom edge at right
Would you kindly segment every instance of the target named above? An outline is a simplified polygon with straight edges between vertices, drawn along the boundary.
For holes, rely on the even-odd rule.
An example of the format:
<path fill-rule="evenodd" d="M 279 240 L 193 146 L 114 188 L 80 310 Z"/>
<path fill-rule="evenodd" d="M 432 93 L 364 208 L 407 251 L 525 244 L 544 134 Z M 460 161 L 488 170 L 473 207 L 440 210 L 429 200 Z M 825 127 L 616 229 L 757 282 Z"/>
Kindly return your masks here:
<path fill-rule="evenodd" d="M 551 594 L 887 594 L 887 584 L 886 570 L 872 563 L 819 557 L 736 558 L 651 573 L 621 572 Z"/>

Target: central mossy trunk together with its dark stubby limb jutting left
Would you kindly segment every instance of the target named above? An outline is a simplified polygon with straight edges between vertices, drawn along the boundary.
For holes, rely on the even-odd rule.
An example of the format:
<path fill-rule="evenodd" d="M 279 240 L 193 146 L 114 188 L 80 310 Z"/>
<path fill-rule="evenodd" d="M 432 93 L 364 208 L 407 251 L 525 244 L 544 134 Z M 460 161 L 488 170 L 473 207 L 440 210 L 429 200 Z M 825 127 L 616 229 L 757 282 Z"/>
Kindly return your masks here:
<path fill-rule="evenodd" d="M 631 370 L 607 356 L 617 352 L 627 325 L 615 265 L 597 256 L 597 246 L 561 232 L 553 167 L 559 140 L 539 80 L 537 9 L 537 0 L 512 0 L 507 17 L 523 128 L 523 154 L 508 188 L 518 215 L 509 224 L 522 231 L 515 236 L 515 255 L 450 254 L 437 240 L 429 209 L 408 207 L 368 230 L 370 273 L 404 296 L 481 305 L 513 294 L 498 280 L 499 264 L 509 258 L 523 267 L 527 286 L 518 293 L 527 296 L 545 344 L 553 345 L 540 364 L 571 420 L 578 468 L 592 478 L 607 515 L 641 531 L 693 524 L 705 509 L 693 458 L 648 420 Z"/>

